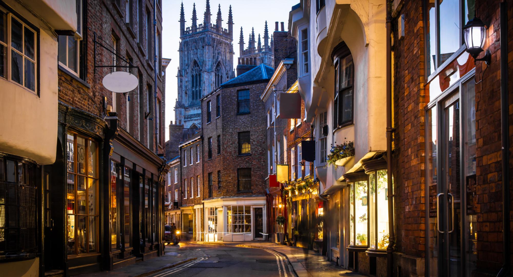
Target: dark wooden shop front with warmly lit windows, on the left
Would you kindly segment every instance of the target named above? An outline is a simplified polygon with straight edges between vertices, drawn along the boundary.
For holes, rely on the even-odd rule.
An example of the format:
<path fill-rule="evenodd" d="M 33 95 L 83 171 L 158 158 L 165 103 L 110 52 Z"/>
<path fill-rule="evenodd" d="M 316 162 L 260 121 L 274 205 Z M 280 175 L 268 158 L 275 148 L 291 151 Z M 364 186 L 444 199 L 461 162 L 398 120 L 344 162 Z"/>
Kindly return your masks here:
<path fill-rule="evenodd" d="M 56 161 L 43 178 L 47 271 L 111 270 L 161 253 L 163 161 L 111 115 L 59 105 Z"/>

